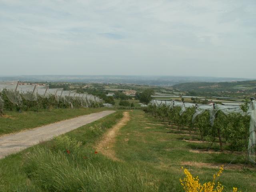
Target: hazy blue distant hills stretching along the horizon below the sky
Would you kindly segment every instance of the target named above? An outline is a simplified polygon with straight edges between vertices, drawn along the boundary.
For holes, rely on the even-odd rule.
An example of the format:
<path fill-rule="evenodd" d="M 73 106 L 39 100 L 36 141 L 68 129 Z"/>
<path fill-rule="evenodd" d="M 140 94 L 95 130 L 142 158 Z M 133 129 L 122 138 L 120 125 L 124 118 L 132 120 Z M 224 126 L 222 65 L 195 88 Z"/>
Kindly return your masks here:
<path fill-rule="evenodd" d="M 195 76 L 129 76 L 129 75 L 24 75 L 0 76 L 0 81 L 20 80 L 29 82 L 82 82 L 82 83 L 122 83 L 154 86 L 173 86 L 185 82 L 231 82 L 244 78 L 218 78 Z"/>

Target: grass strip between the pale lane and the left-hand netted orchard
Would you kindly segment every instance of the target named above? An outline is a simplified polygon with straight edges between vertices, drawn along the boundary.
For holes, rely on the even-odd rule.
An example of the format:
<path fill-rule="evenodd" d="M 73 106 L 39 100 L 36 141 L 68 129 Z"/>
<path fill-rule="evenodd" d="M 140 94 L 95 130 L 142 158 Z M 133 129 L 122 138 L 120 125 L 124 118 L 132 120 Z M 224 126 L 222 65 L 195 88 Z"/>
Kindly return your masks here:
<path fill-rule="evenodd" d="M 104 108 L 79 108 L 79 109 L 52 109 L 41 112 L 11 112 L 6 111 L 4 117 L 0 117 L 0 135 L 18 132 L 24 129 L 35 128 L 46 124 L 74 118 L 94 112 L 106 110 Z"/>

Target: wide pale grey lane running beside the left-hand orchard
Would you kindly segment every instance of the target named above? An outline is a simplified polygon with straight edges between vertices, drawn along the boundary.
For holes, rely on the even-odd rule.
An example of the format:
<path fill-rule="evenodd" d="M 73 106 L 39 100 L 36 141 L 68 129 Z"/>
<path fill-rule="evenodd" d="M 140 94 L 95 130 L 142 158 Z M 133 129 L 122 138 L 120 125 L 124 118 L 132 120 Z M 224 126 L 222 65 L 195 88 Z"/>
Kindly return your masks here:
<path fill-rule="evenodd" d="M 15 134 L 0 136 L 0 158 L 4 158 L 9 154 L 38 144 L 41 141 L 49 140 L 54 136 L 74 130 L 114 112 L 115 111 L 102 111 L 48 124 Z"/>

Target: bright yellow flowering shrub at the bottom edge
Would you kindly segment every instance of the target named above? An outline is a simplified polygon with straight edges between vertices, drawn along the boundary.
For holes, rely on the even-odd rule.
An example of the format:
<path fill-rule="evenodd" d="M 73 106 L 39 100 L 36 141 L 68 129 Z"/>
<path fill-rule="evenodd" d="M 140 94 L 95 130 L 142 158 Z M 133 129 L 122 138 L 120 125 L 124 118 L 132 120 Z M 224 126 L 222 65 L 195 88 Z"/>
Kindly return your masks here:
<path fill-rule="evenodd" d="M 216 178 L 220 176 L 223 170 L 224 168 L 221 166 L 218 173 L 213 175 L 212 181 L 200 184 L 198 176 L 193 177 L 187 169 L 184 169 L 185 177 L 180 179 L 180 184 L 185 192 L 222 192 L 224 187 L 220 182 L 216 184 Z M 236 187 L 233 187 L 233 192 L 238 192 Z"/>

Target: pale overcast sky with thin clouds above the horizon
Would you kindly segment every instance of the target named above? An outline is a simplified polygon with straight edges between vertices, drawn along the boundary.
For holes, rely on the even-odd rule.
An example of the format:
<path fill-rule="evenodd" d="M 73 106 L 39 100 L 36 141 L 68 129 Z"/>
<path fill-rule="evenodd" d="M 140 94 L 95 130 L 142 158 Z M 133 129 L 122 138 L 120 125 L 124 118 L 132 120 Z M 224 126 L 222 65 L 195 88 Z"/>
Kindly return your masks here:
<path fill-rule="evenodd" d="M 0 76 L 256 78 L 256 0 L 0 0 Z"/>

